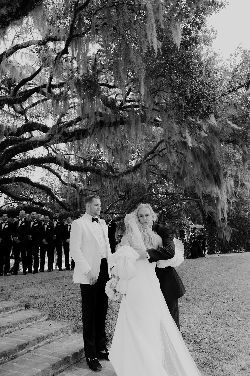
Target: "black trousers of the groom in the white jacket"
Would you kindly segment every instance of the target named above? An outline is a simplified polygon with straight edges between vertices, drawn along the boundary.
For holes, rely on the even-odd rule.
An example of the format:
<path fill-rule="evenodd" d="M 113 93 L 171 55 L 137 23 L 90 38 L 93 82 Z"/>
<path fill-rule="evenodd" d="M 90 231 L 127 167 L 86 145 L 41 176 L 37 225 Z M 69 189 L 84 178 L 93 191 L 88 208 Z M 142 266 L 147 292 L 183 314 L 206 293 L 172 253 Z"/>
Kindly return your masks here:
<path fill-rule="evenodd" d="M 94 285 L 80 284 L 82 294 L 82 330 L 86 358 L 96 358 L 97 351 L 106 349 L 105 321 L 108 296 L 105 294 L 109 280 L 107 259 L 101 259 L 100 273 Z"/>

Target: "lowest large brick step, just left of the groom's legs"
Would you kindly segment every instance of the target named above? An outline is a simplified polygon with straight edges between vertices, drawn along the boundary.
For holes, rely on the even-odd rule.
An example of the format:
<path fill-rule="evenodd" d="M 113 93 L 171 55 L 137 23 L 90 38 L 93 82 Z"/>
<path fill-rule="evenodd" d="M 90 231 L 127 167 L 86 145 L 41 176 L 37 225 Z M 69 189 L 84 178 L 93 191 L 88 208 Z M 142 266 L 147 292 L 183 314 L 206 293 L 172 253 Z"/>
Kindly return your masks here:
<path fill-rule="evenodd" d="M 79 362 L 84 356 L 82 334 L 66 334 L 56 341 L 1 364 L 0 375 L 52 376 Z"/>

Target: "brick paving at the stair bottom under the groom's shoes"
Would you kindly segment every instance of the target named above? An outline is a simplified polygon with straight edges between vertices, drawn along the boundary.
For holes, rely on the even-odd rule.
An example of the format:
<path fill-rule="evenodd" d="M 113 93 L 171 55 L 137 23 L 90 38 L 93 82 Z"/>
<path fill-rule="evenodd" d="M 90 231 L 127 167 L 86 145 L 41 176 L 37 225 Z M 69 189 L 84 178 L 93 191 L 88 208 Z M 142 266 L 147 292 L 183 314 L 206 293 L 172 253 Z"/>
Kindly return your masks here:
<path fill-rule="evenodd" d="M 102 365 L 102 370 L 98 372 L 98 376 L 116 376 L 114 368 L 112 367 L 111 363 L 108 360 L 100 359 L 99 362 Z M 86 376 L 96 375 L 96 372 L 91 371 L 90 368 L 88 367 L 86 363 L 86 358 L 66 368 L 58 376 L 83 376 L 83 375 L 86 375 Z"/>

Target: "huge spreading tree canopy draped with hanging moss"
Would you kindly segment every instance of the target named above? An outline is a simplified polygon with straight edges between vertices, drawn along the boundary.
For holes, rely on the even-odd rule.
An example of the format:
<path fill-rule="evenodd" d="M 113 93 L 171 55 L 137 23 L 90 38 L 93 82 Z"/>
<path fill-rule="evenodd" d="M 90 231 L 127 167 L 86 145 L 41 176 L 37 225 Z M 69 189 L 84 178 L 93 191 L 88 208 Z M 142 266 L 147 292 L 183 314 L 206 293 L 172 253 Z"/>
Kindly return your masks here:
<path fill-rule="evenodd" d="M 225 149 L 246 159 L 249 148 L 234 97 L 250 76 L 247 64 L 223 71 L 203 55 L 205 18 L 223 6 L 16 0 L 1 9 L 4 205 L 74 212 L 99 192 L 103 210 L 121 216 L 141 200 L 158 198 L 161 209 L 186 199 L 225 220 L 234 192 Z"/>

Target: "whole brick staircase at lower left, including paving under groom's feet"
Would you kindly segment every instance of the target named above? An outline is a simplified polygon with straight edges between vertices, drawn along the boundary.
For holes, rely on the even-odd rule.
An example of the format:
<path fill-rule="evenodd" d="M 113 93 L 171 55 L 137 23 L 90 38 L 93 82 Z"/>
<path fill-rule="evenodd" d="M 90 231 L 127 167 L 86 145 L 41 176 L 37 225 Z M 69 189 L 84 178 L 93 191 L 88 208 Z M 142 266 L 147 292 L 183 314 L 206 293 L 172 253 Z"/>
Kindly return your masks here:
<path fill-rule="evenodd" d="M 82 334 L 73 324 L 48 320 L 46 312 L 25 309 L 24 303 L 4 300 L 0 293 L 1 376 L 91 376 Z M 115 376 L 109 361 L 101 360 L 99 376 Z"/>

